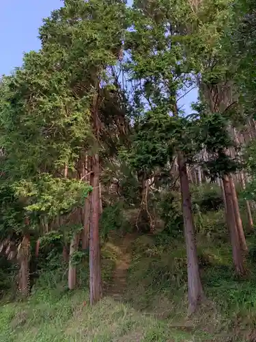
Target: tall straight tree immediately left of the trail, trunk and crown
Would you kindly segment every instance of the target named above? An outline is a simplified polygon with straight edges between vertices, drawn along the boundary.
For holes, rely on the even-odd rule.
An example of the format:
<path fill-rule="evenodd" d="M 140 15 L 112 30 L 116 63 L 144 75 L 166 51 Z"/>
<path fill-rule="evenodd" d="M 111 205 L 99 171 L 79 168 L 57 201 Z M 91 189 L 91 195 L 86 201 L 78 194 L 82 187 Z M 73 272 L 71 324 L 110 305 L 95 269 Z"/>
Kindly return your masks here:
<path fill-rule="evenodd" d="M 69 73 L 69 88 L 74 98 L 89 103 L 91 140 L 84 142 L 85 154 L 90 156 L 90 301 L 94 304 L 102 297 L 100 276 L 100 150 L 103 124 L 100 107 L 102 90 L 113 86 L 109 69 L 117 64 L 124 38 L 124 12 L 122 1 L 64 1 L 64 7 L 53 12 L 40 29 L 44 49 L 48 46 L 63 51 Z M 112 83 L 111 83 L 112 82 Z"/>

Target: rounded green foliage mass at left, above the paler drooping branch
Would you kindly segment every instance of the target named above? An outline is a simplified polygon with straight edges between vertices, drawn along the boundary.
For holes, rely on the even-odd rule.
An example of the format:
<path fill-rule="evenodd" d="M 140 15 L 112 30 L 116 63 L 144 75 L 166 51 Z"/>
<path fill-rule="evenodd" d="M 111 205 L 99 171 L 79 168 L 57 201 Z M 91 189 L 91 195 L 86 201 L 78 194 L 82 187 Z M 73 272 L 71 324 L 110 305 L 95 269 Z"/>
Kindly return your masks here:
<path fill-rule="evenodd" d="M 38 170 L 74 168 L 79 145 L 88 135 L 85 99 L 75 101 L 65 71 L 49 67 L 61 58 L 56 49 L 29 53 L 23 69 L 4 80 L 8 89 L 2 94 L 1 140 L 8 155 L 5 168 L 18 179 Z"/>

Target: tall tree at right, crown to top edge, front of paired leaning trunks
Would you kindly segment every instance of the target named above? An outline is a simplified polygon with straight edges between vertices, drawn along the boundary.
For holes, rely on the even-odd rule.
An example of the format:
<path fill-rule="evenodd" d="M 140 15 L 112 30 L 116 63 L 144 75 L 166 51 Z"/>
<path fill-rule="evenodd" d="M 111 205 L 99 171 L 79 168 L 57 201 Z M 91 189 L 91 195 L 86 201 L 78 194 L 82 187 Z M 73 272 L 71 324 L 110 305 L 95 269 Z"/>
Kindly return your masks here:
<path fill-rule="evenodd" d="M 228 28 L 235 13 L 229 0 L 204 0 L 195 3 L 188 1 L 184 16 L 186 16 L 186 25 L 179 29 L 188 33 L 186 60 L 197 74 L 200 100 L 203 105 L 206 105 L 208 116 L 212 116 L 209 120 L 206 118 L 206 121 L 211 122 L 211 126 L 214 127 L 212 143 L 209 144 L 208 135 L 208 142 L 206 144 L 201 142 L 200 148 L 202 146 L 209 148 L 208 155 L 212 160 L 209 160 L 208 166 L 211 164 L 212 168 L 208 168 L 208 171 L 212 173 L 212 177 L 223 179 L 225 185 L 223 200 L 227 207 L 227 225 L 231 235 L 233 261 L 238 274 L 244 274 L 242 254 L 247 247 L 236 189 L 231 176 L 237 171 L 238 160 L 234 160 L 228 152 L 235 147 L 235 144 L 225 133 L 228 131 L 231 136 L 231 127 L 236 124 L 238 117 L 236 111 L 238 95 L 233 82 L 237 65 L 229 60 L 229 53 L 225 47 L 227 40 L 230 39 Z M 213 121 L 214 119 L 216 122 Z M 225 127 L 219 126 L 220 123 L 224 123 Z M 216 136 L 220 137 L 219 141 Z"/>

